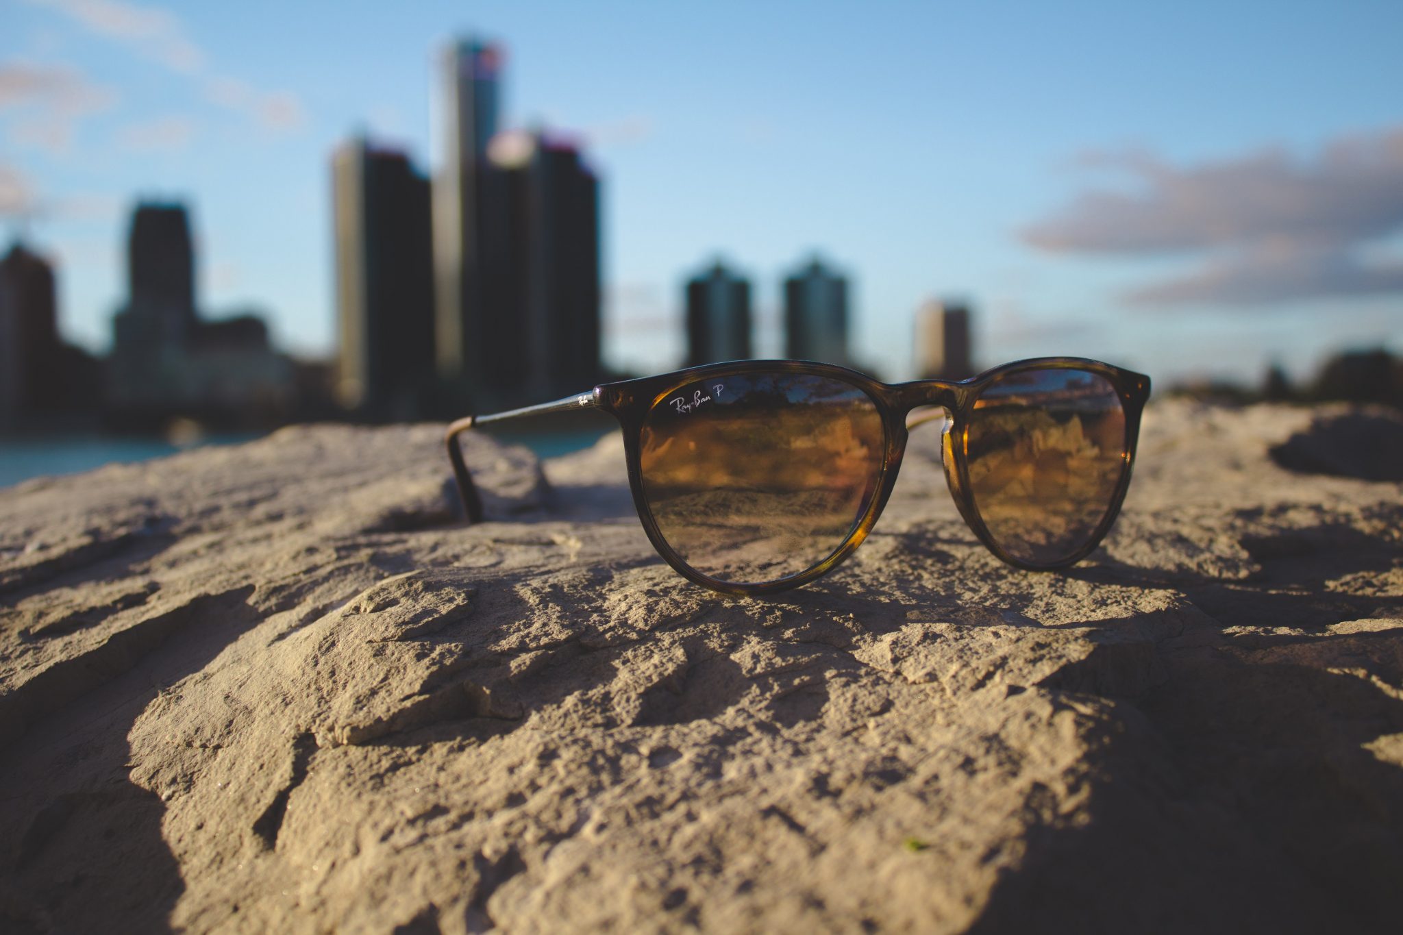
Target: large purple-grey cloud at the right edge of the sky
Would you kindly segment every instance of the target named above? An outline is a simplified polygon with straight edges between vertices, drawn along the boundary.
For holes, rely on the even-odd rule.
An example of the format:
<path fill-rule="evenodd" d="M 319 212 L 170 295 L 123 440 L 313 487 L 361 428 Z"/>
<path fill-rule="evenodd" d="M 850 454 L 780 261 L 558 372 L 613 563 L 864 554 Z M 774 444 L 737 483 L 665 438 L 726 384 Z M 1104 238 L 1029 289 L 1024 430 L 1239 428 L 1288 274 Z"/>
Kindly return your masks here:
<path fill-rule="evenodd" d="M 1268 150 L 1174 167 L 1149 153 L 1083 167 L 1132 186 L 1089 191 L 1020 231 L 1048 252 L 1183 255 L 1194 272 L 1125 296 L 1132 304 L 1264 306 L 1403 290 L 1403 261 L 1367 248 L 1403 228 L 1403 128 L 1347 136 L 1308 160 Z"/>

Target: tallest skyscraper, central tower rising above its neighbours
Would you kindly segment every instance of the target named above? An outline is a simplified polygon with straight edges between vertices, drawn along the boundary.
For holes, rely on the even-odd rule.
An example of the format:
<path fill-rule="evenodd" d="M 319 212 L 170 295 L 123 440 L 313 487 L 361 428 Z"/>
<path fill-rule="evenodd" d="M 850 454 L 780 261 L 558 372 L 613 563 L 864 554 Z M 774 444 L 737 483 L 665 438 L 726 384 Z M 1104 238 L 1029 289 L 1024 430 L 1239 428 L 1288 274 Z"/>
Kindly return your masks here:
<path fill-rule="evenodd" d="M 474 381 L 488 359 L 481 339 L 487 144 L 497 135 L 502 52 L 467 39 L 439 63 L 441 163 L 434 175 L 435 355 L 439 376 Z"/>

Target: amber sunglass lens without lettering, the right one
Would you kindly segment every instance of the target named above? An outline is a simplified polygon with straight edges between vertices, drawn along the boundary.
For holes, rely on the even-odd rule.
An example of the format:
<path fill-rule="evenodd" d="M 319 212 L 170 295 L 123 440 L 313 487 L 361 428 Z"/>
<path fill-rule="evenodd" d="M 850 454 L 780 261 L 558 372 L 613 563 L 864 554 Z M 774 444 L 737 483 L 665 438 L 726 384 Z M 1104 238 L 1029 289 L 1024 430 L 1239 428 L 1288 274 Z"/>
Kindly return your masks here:
<path fill-rule="evenodd" d="M 1065 561 L 1101 524 L 1125 470 L 1125 411 L 1085 370 L 1021 370 L 979 395 L 969 488 L 989 534 L 1034 565 Z"/>

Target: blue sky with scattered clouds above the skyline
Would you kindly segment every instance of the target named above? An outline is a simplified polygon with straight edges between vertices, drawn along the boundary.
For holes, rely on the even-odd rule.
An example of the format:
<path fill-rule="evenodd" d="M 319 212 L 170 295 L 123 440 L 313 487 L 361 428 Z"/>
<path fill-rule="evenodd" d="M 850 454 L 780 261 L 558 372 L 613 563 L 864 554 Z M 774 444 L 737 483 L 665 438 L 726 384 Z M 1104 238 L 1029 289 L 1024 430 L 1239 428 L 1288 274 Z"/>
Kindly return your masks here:
<path fill-rule="evenodd" d="M 202 313 L 331 355 L 331 150 L 365 132 L 432 171 L 434 59 L 467 35 L 506 49 L 505 123 L 602 179 L 615 367 L 679 366 L 716 257 L 780 356 L 815 252 L 887 378 L 927 299 L 972 307 L 981 366 L 1256 383 L 1403 352 L 1397 0 L 0 0 L 0 244 L 55 259 L 63 332 L 102 350 L 135 200 L 184 200 Z"/>

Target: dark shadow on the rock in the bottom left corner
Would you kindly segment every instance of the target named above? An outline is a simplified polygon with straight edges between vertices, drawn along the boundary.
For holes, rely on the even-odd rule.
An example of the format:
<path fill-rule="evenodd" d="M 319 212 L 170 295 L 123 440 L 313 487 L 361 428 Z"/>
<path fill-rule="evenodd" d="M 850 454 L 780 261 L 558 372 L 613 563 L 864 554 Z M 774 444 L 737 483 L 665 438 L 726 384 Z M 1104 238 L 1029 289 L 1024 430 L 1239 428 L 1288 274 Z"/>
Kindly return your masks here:
<path fill-rule="evenodd" d="M 126 646 L 111 669 L 88 671 L 56 694 L 4 750 L 6 800 L 0 861 L 0 928 L 7 932 L 156 932 L 184 892 L 180 866 L 161 835 L 161 795 L 129 778 L 128 733 L 170 685 L 202 670 L 260 620 L 250 589 L 202 599 L 177 614 L 152 645 Z M 168 618 L 171 615 L 167 615 Z M 125 663 L 125 670 L 119 667 Z M 73 673 L 69 673 L 72 681 Z M 59 684 L 65 683 L 65 684 Z M 93 718 L 91 712 L 105 712 Z"/>

